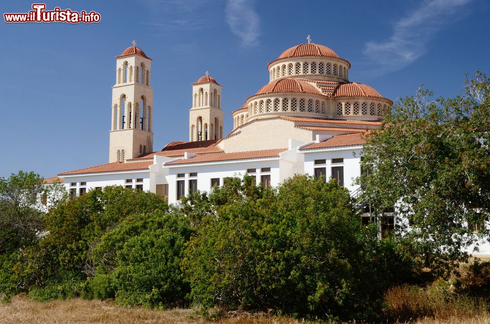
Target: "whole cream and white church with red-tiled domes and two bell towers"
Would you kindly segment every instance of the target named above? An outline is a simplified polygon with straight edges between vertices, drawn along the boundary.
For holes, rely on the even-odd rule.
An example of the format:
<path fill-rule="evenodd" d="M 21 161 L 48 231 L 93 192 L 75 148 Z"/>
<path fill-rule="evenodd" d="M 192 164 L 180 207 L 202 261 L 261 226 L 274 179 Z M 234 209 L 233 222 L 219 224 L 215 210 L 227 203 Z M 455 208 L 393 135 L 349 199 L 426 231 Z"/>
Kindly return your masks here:
<path fill-rule="evenodd" d="M 116 56 L 108 163 L 58 174 L 72 196 L 123 185 L 178 206 L 184 195 L 245 174 L 264 186 L 280 185 L 294 174 L 332 177 L 356 195 L 362 134 L 381 127 L 392 106 L 375 89 L 351 81 L 349 61 L 308 36 L 308 43 L 286 49 L 267 65 L 269 83 L 231 114 L 229 134 L 223 134 L 222 85 L 206 72 L 192 84 L 189 140 L 158 150 L 151 62 L 134 41 Z M 387 217 L 380 235 L 394 223 Z"/>

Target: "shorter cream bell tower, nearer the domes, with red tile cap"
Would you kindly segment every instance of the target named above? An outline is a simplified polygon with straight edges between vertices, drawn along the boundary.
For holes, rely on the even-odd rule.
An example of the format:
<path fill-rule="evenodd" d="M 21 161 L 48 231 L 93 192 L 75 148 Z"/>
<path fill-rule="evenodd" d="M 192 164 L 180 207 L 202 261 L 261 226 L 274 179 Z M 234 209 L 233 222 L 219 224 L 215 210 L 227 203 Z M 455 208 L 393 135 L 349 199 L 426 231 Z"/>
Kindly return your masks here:
<path fill-rule="evenodd" d="M 221 139 L 222 137 L 221 85 L 206 71 L 205 75 L 192 84 L 189 141 Z"/>

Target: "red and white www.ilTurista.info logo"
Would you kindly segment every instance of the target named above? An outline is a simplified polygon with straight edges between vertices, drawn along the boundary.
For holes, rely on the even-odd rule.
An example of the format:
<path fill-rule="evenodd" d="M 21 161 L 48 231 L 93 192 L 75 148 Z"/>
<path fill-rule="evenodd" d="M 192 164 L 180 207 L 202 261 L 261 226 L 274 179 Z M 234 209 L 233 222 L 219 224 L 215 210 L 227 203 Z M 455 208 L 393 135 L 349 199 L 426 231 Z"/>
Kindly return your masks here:
<path fill-rule="evenodd" d="M 72 9 L 61 10 L 55 7 L 53 10 L 46 10 L 46 3 L 33 3 L 32 9 L 27 13 L 5 13 L 3 19 L 5 23 L 98 23 L 100 14 L 95 11 L 87 13 L 85 10 L 80 12 Z"/>

